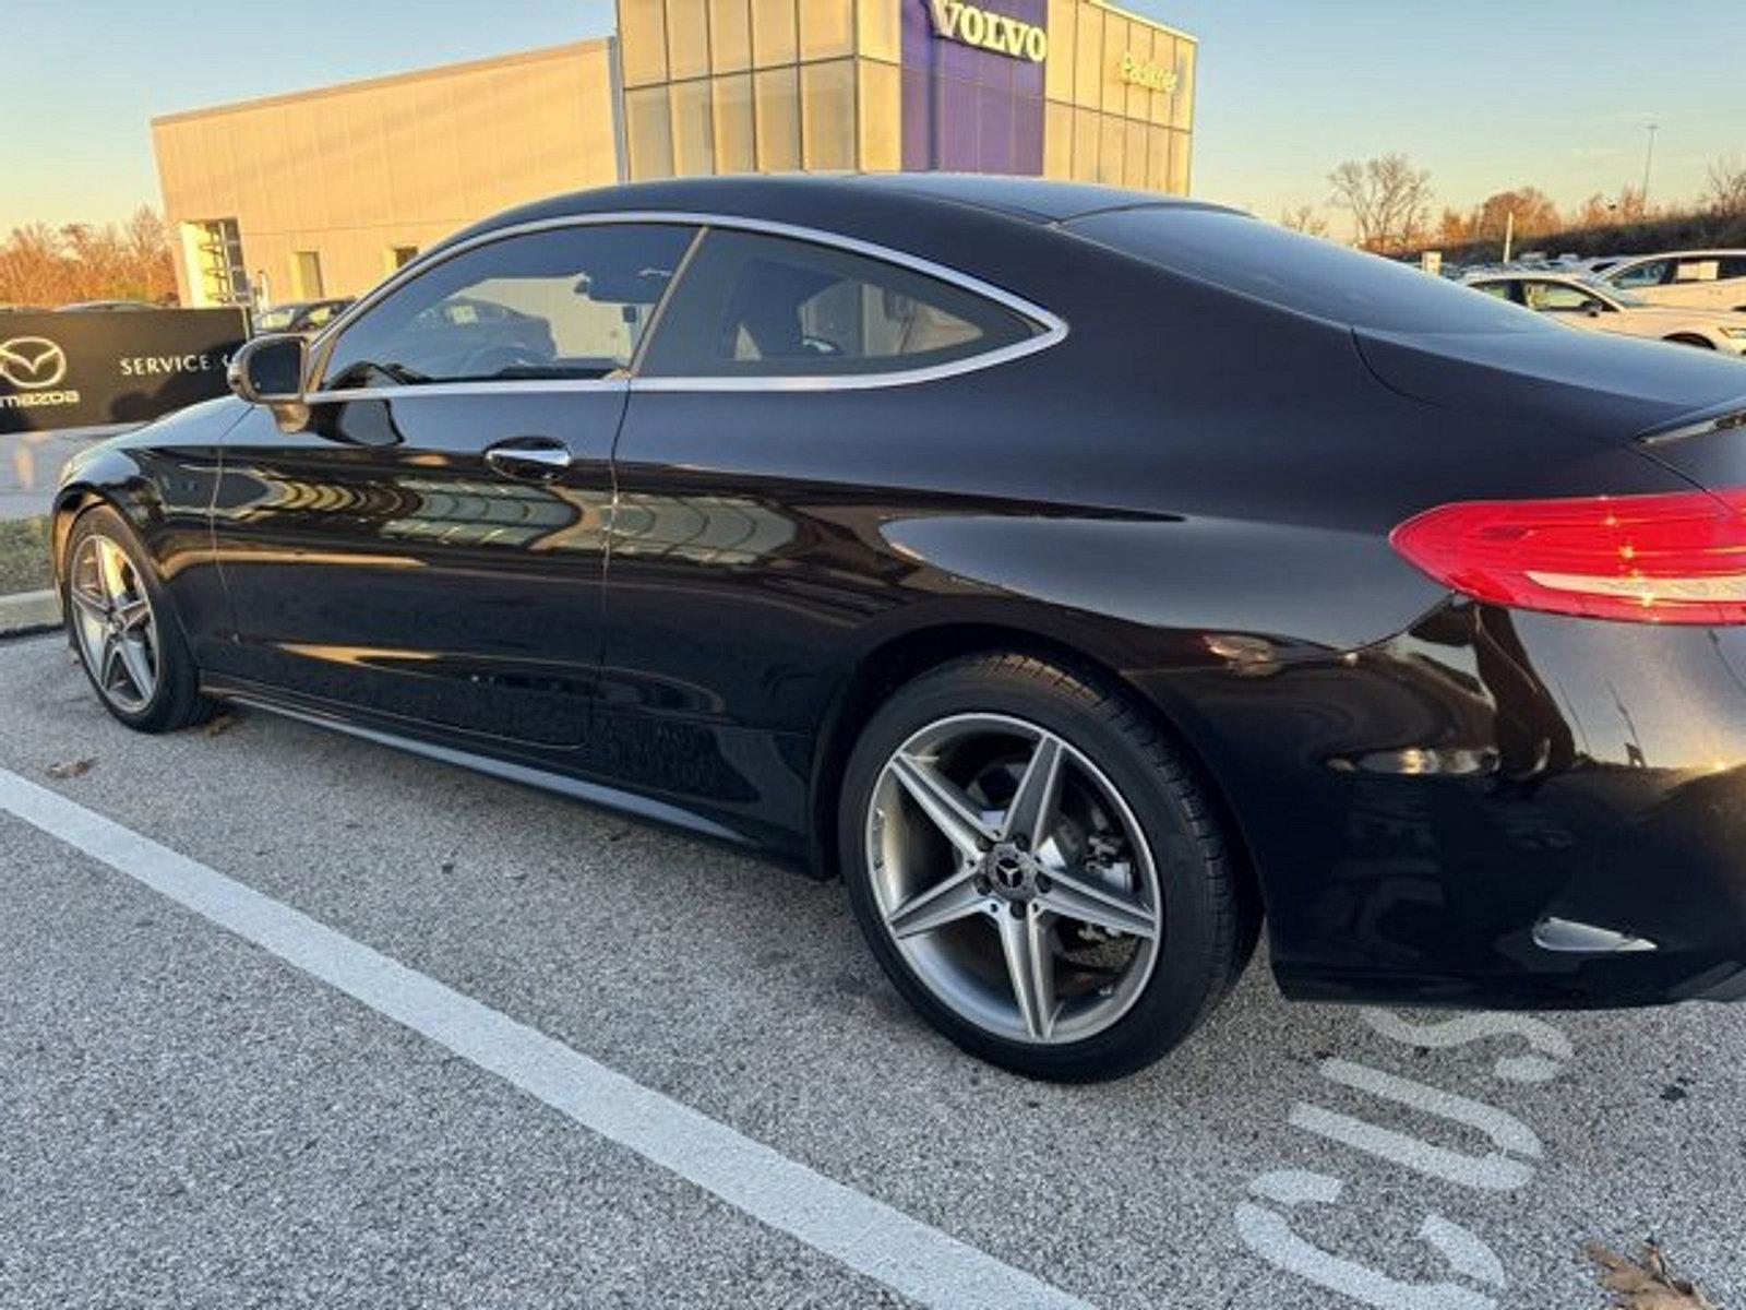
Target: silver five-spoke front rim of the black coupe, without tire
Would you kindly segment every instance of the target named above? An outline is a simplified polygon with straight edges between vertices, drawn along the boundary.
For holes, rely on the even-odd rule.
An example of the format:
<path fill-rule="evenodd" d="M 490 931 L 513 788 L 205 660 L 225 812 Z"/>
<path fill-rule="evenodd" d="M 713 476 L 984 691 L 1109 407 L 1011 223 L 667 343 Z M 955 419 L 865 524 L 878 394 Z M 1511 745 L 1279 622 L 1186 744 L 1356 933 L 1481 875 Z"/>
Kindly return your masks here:
<path fill-rule="evenodd" d="M 79 653 L 103 697 L 138 714 L 157 692 L 157 617 L 127 554 L 101 533 L 79 543 L 66 596 Z"/>

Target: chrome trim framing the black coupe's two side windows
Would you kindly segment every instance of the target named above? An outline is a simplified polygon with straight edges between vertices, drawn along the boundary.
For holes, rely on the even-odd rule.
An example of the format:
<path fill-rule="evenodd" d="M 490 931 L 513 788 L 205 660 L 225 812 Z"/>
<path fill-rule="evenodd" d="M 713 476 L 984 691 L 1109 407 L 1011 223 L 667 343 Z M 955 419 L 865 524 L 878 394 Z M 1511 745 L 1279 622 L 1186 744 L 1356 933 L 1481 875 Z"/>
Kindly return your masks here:
<path fill-rule="evenodd" d="M 1000 346 L 999 349 L 983 351 L 980 355 L 967 355 L 962 360 L 952 360 L 950 363 L 936 363 L 922 369 L 892 369 L 890 372 L 868 372 L 868 374 L 772 374 L 768 377 L 711 377 L 711 376 L 693 376 L 693 377 L 637 377 L 636 372 L 629 372 L 623 377 L 609 379 L 492 379 L 480 383 L 426 383 L 421 386 L 375 386 L 363 390 L 340 390 L 340 391 L 311 391 L 306 398 L 307 403 L 332 403 L 337 400 L 389 400 L 395 396 L 407 395 L 478 395 L 512 390 L 515 393 L 527 391 L 595 391 L 595 390 L 615 390 L 629 386 L 630 391 L 871 391 L 878 388 L 890 386 L 917 386 L 920 383 L 938 383 L 946 377 L 959 377 L 964 374 L 980 372 L 983 369 L 997 369 L 1004 363 L 1013 363 L 1028 355 L 1037 355 L 1051 346 L 1058 346 L 1067 339 L 1069 327 L 1060 314 L 1055 314 L 1034 300 L 1027 300 L 1014 292 L 1007 292 L 1002 286 L 983 281 L 969 272 L 960 272 L 959 269 L 946 267 L 945 264 L 936 264 L 931 259 L 920 255 L 911 255 L 903 250 L 894 250 L 890 246 L 882 246 L 875 241 L 863 241 L 859 238 L 843 236 L 840 232 L 828 232 L 819 227 L 805 227 L 801 224 L 786 224 L 773 218 L 747 218 L 740 215 L 716 215 L 716 213 L 697 213 L 697 211 L 665 211 L 665 210 L 615 210 L 611 213 L 573 213 L 560 215 L 553 218 L 536 218 L 526 224 L 512 224 L 508 227 L 496 227 L 489 232 L 480 232 L 468 238 L 466 241 L 457 241 L 452 246 L 442 246 L 431 252 L 428 257 L 421 257 L 412 264 L 398 269 L 391 278 L 377 285 L 374 290 L 358 299 L 346 313 L 335 318 L 328 327 L 316 337 L 311 348 L 311 358 L 320 362 L 320 369 L 327 369 L 328 355 L 332 353 L 333 342 L 363 314 L 367 314 L 375 304 L 384 300 L 388 295 L 396 292 L 402 285 L 412 281 L 423 272 L 443 264 L 456 255 L 464 255 L 478 246 L 491 245 L 494 241 L 506 241 L 517 236 L 529 236 L 534 232 L 552 232 L 566 227 L 606 227 L 606 225 L 625 225 L 625 224 L 658 224 L 667 227 L 695 227 L 697 239 L 686 252 L 686 259 L 681 260 L 681 267 L 674 271 L 672 283 L 667 286 L 667 293 L 656 306 L 655 316 L 650 320 L 650 330 L 644 334 L 644 341 L 639 342 L 637 356 L 632 360 L 632 369 L 643 363 L 643 355 L 646 355 L 646 346 L 653 339 L 655 330 L 660 327 L 662 311 L 667 307 L 667 300 L 672 297 L 679 285 L 679 278 L 684 265 L 690 262 L 690 255 L 697 250 L 698 243 L 707 238 L 711 229 L 728 229 L 740 232 L 761 232 L 766 236 L 780 236 L 794 241 L 807 241 L 812 245 L 831 246 L 835 250 L 847 250 L 852 255 L 861 255 L 864 259 L 878 260 L 883 264 L 894 264 L 911 272 L 920 272 L 924 276 L 934 278 L 936 281 L 948 283 L 959 290 L 980 295 L 985 300 L 992 300 L 1004 309 L 1009 309 L 1032 323 L 1041 330 L 1028 341 L 1018 341 L 1011 346 Z M 901 358 L 901 356 L 899 356 Z"/>

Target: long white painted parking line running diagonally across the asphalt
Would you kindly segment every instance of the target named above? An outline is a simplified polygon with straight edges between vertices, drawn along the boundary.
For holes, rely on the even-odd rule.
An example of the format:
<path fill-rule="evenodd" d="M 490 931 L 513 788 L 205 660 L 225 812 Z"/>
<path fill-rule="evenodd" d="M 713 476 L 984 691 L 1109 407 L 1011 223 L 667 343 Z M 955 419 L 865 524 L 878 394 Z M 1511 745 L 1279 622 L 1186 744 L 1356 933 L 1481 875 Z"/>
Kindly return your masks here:
<path fill-rule="evenodd" d="M 0 769 L 0 810 L 194 910 L 608 1141 L 929 1307 L 1088 1310 L 148 837 Z"/>

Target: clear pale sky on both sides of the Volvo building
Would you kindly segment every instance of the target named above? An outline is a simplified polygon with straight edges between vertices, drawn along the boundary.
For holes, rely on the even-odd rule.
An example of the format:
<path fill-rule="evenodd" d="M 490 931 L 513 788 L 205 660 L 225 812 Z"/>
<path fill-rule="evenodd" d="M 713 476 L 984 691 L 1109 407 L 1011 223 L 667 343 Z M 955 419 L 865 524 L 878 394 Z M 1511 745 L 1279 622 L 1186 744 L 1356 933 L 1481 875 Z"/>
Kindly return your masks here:
<path fill-rule="evenodd" d="M 1636 185 L 1652 122 L 1652 199 L 1695 199 L 1711 161 L 1746 161 L 1746 0 L 1126 7 L 1201 40 L 1194 194 L 1268 217 L 1323 204 L 1329 169 L 1388 150 L 1430 169 L 1437 204 L 1456 208 L 1519 185 L 1564 206 Z M 611 26 L 611 0 L 3 0 L 0 232 L 159 204 L 157 114 Z"/>

